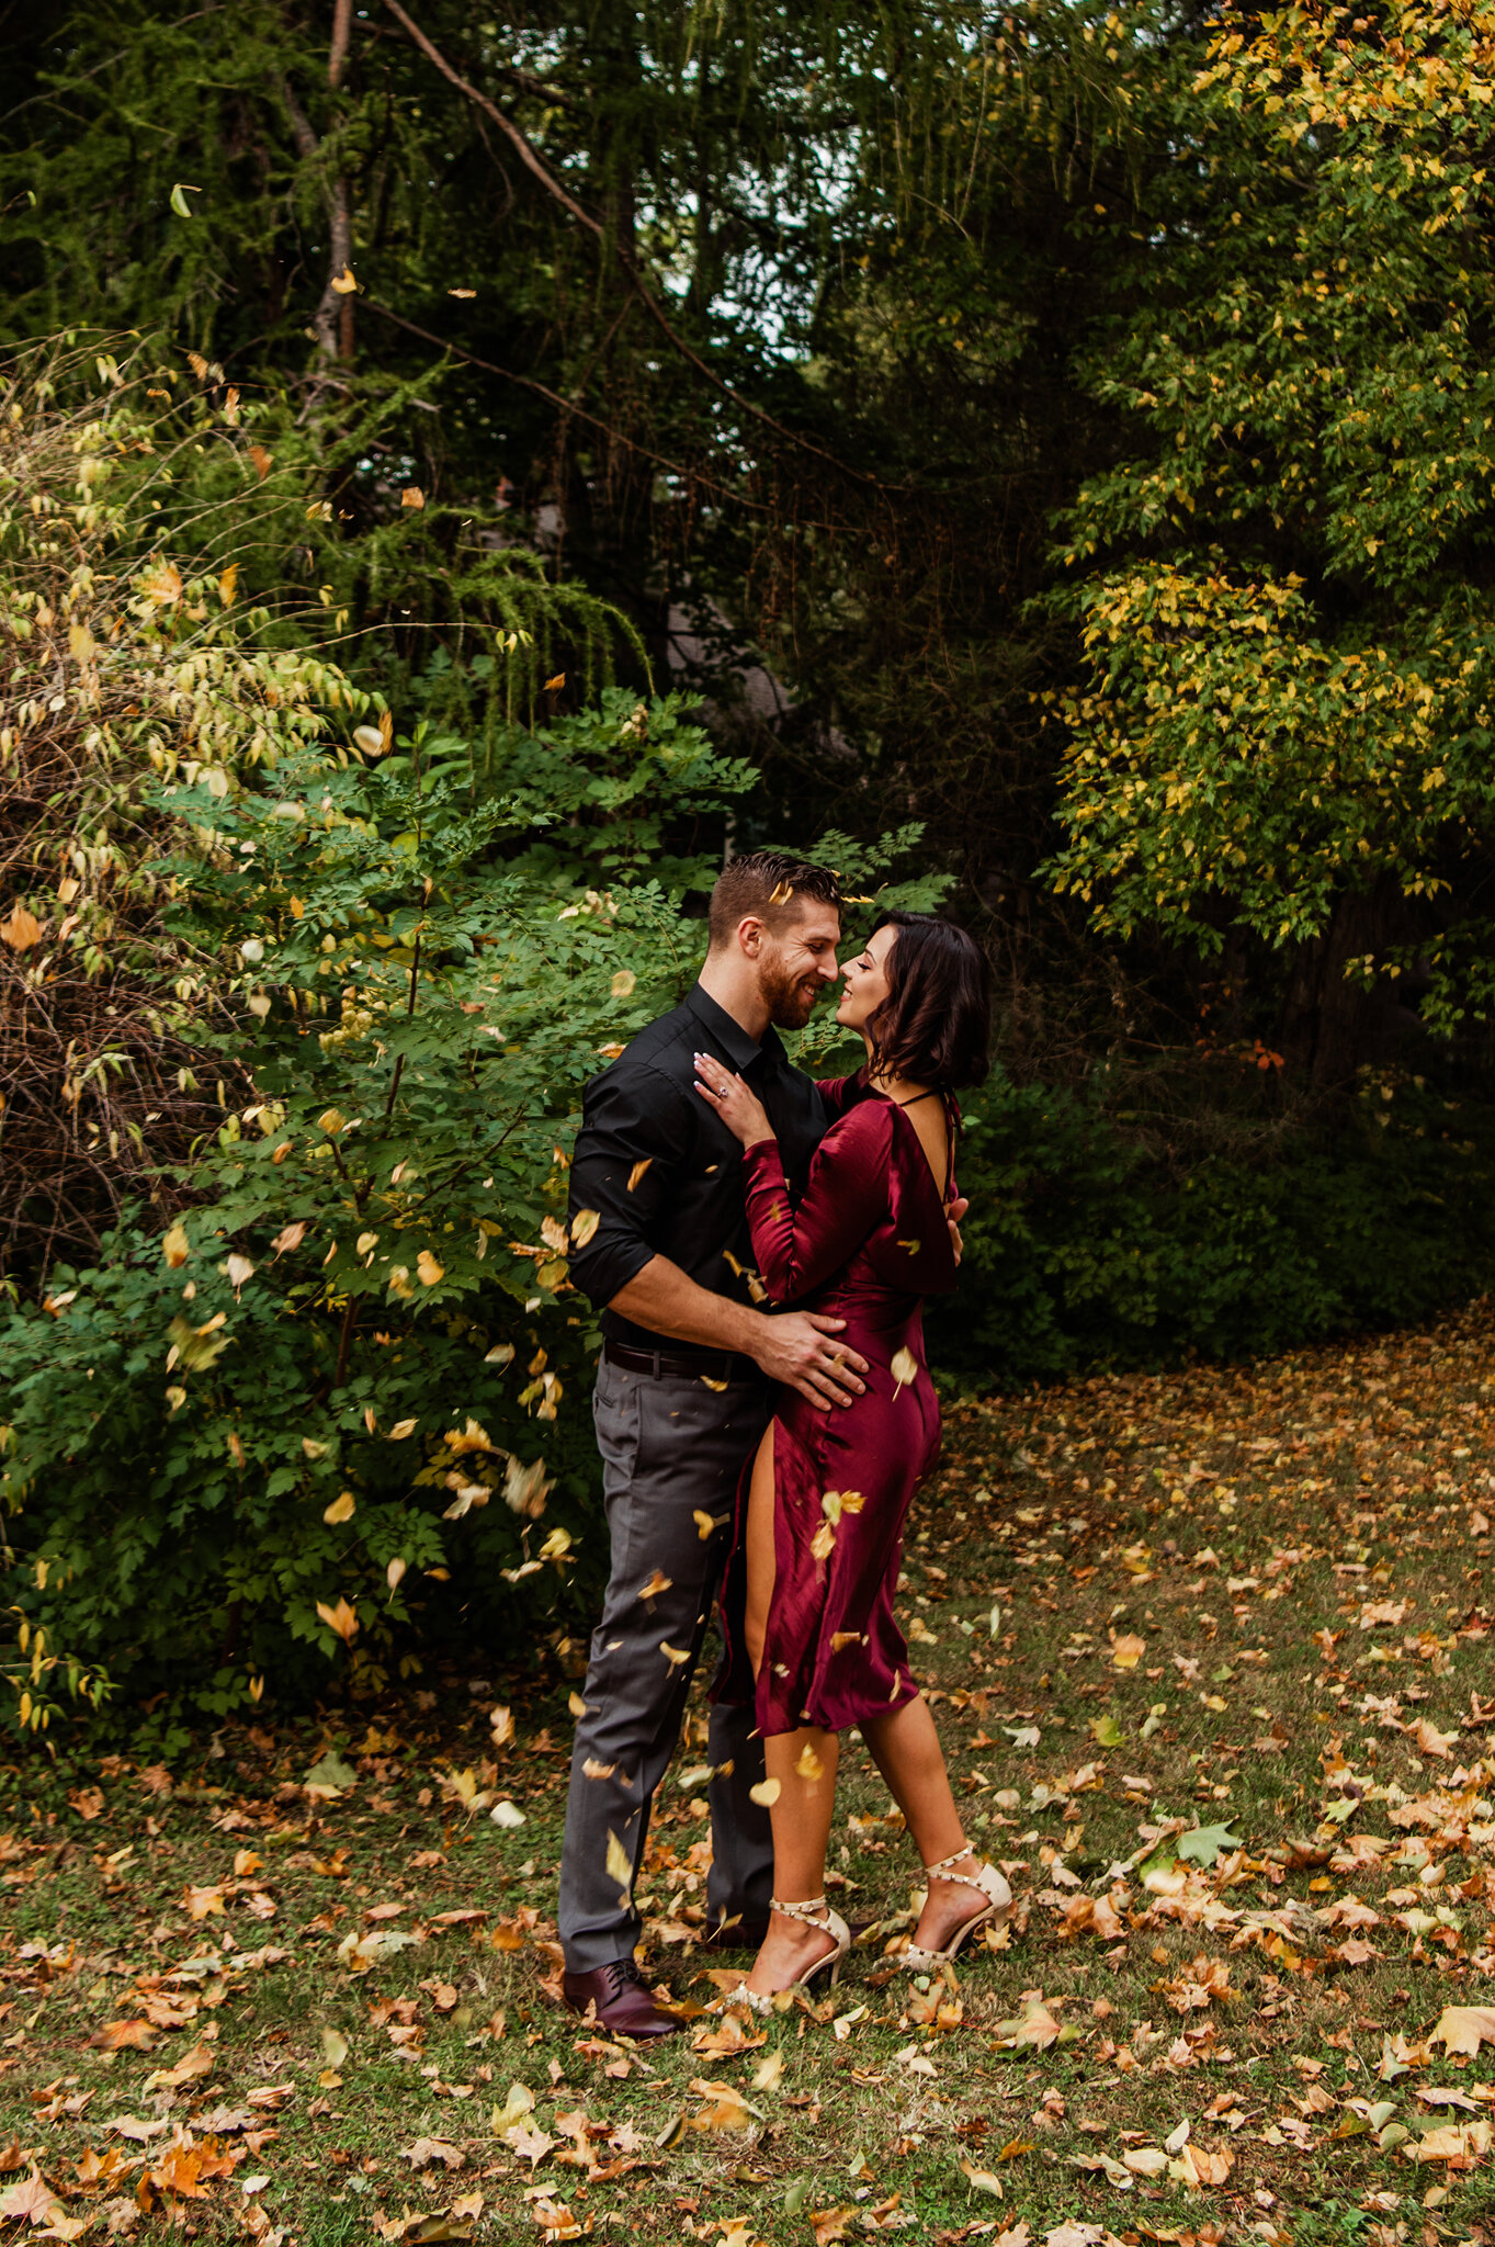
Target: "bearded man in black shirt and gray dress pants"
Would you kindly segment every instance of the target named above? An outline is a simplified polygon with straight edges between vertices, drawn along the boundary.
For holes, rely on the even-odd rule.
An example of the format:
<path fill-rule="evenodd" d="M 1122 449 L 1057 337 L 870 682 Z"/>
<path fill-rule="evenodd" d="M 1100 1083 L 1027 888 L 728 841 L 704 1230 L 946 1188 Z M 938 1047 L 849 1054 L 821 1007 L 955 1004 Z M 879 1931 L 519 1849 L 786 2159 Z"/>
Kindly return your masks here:
<path fill-rule="evenodd" d="M 734 858 L 712 890 L 700 982 L 586 1088 L 570 1173 L 575 1283 L 602 1308 L 593 1413 L 604 1463 L 611 1582 L 577 1721 L 561 1852 L 566 2002 L 622 2036 L 678 2029 L 633 1946 L 633 1883 L 649 1809 L 730 1546 L 736 1483 L 768 1425 L 774 1382 L 831 1409 L 862 1393 L 866 1359 L 840 1319 L 765 1314 L 741 1186 L 741 1148 L 696 1092 L 694 1054 L 739 1070 L 804 1189 L 826 1130 L 813 1079 L 777 1029 L 801 1029 L 835 982 L 835 876 L 783 852 Z M 761 1288 L 759 1288 L 761 1294 Z M 768 1811 L 752 1800 L 763 1744 L 750 1708 L 714 1708 L 707 1937 L 759 1946 L 772 1896 Z"/>

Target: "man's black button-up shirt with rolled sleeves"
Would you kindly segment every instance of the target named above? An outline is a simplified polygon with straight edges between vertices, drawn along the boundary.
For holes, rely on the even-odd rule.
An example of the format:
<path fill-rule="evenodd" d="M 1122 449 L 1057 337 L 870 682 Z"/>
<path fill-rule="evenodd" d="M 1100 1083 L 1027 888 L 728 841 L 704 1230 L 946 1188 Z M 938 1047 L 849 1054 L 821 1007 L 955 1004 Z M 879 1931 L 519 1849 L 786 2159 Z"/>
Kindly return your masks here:
<path fill-rule="evenodd" d="M 790 1189 L 804 1191 L 828 1121 L 815 1079 L 792 1067 L 777 1031 L 754 1045 L 696 984 L 682 1007 L 593 1076 L 581 1101 L 570 1222 L 595 1209 L 597 1231 L 572 1249 L 570 1276 L 599 1310 L 651 1256 L 669 1256 L 712 1294 L 752 1301 L 743 1150 L 696 1092 L 696 1054 L 714 1054 L 748 1079 L 777 1132 Z M 615 1310 L 604 1310 L 602 1330 L 646 1350 L 680 1350 Z"/>

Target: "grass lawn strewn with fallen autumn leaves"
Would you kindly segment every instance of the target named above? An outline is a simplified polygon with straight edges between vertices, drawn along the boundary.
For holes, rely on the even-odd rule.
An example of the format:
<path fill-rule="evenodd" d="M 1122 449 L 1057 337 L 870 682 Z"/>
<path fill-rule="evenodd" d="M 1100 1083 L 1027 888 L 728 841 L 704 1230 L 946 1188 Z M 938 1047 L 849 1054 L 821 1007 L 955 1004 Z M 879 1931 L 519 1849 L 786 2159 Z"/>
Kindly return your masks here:
<path fill-rule="evenodd" d="M 691 2027 L 644 2052 L 550 1995 L 554 1672 L 11 1766 L 0 2240 L 1495 2243 L 1493 1344 L 947 1413 L 902 1618 L 1019 1896 L 950 1984 L 889 1955 L 918 1863 L 855 1739 L 869 1939 L 770 2025 L 703 2011 L 682 1746 L 644 1908 Z"/>

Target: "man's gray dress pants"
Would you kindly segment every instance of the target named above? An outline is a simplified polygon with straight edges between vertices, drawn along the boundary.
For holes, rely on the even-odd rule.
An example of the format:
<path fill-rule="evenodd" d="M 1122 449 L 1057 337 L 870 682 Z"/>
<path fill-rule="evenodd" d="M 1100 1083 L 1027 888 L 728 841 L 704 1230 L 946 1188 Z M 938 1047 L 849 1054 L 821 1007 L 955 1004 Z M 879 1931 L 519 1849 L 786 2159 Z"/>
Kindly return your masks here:
<path fill-rule="evenodd" d="M 570 1759 L 559 1921 L 572 1973 L 633 1957 L 649 1807 L 680 1737 L 739 1476 L 768 1427 L 770 1398 L 761 1380 L 707 1389 L 606 1357 L 597 1368 L 593 1418 L 613 1571 Z M 750 1705 L 712 1710 L 707 1910 L 718 1919 L 765 1919 L 772 1896 L 768 1811 L 748 1793 L 763 1780 L 754 1726 Z"/>

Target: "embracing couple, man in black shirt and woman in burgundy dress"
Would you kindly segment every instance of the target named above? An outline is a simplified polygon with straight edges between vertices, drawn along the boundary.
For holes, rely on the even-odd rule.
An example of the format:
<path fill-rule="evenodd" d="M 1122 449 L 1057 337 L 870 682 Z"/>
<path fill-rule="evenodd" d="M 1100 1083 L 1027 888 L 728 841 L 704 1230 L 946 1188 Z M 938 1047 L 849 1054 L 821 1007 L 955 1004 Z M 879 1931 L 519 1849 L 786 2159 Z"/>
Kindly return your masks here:
<path fill-rule="evenodd" d="M 837 966 L 840 890 L 734 858 L 682 1007 L 593 1079 L 572 1162 L 572 1279 L 602 1308 L 595 1422 L 611 1582 L 593 1634 L 561 1854 L 566 2002 L 622 2036 L 649 1995 L 633 1883 L 712 1604 L 705 1941 L 756 1950 L 732 2002 L 835 1980 L 826 1905 L 840 1735 L 871 1748 L 927 1874 L 902 1964 L 932 1971 L 1010 1908 L 967 1847 L 893 1620 L 902 1523 L 938 1449 L 920 1328 L 956 1283 L 956 1090 L 985 1076 L 988 968 L 929 915 Z M 866 1065 L 815 1083 L 777 1036 L 842 980 Z M 763 1308 L 759 1308 L 763 1306 Z"/>

